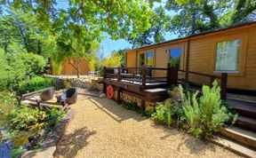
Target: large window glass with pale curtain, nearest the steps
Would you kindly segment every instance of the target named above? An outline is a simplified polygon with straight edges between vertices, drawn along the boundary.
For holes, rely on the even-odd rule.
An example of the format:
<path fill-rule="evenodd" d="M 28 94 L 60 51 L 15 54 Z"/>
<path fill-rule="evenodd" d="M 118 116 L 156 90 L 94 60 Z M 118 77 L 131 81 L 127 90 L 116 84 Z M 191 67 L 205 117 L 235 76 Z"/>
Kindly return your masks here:
<path fill-rule="evenodd" d="M 215 71 L 238 72 L 241 43 L 241 39 L 217 43 Z"/>

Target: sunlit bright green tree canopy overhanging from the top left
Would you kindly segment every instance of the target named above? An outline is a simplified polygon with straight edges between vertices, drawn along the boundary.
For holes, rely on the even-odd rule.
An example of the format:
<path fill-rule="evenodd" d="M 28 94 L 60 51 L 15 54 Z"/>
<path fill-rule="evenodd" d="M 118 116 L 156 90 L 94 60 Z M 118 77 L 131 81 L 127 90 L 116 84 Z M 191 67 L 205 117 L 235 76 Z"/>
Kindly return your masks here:
<path fill-rule="evenodd" d="M 36 14 L 38 24 L 50 28 L 61 42 L 72 44 L 70 39 L 76 38 L 79 43 L 90 45 L 94 40 L 100 42 L 102 32 L 107 32 L 112 39 L 135 38 L 144 33 L 151 28 L 150 22 L 155 16 L 152 10 L 154 2 L 69 0 L 68 9 L 58 8 L 61 2 L 57 0 L 16 0 L 7 4 Z"/>

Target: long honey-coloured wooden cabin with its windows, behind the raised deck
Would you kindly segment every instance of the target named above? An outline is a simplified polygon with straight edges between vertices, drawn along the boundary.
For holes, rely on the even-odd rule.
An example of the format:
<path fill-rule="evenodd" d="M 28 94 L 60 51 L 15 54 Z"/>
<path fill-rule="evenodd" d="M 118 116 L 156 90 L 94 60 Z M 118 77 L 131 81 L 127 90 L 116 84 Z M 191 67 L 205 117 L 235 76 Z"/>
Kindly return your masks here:
<path fill-rule="evenodd" d="M 167 63 L 209 75 L 227 73 L 228 90 L 256 95 L 256 21 L 126 51 L 126 67 L 167 67 Z M 179 78 L 209 83 L 195 74 L 179 72 Z"/>

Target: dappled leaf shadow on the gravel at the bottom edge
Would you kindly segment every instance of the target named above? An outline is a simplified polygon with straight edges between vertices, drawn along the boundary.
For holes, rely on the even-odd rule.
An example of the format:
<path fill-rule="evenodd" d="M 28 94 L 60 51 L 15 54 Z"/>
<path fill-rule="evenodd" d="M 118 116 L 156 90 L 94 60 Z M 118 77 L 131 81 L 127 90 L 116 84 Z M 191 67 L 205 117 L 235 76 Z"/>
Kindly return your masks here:
<path fill-rule="evenodd" d="M 73 158 L 77 152 L 88 145 L 87 138 L 96 134 L 95 130 L 89 131 L 86 128 L 75 130 L 74 133 L 63 135 L 57 144 L 54 157 Z"/>

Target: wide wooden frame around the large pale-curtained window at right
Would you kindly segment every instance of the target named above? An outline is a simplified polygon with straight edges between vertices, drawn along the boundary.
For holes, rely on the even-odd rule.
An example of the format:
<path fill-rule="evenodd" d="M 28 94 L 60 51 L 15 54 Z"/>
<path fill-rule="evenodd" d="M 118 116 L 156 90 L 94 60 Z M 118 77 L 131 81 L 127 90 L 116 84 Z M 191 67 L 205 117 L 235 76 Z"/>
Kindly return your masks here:
<path fill-rule="evenodd" d="M 237 71 L 216 71 L 216 55 L 217 55 L 217 43 L 228 42 L 232 40 L 241 40 L 241 46 L 238 55 L 238 68 Z M 214 74 L 228 73 L 233 76 L 244 76 L 244 69 L 246 63 L 246 54 L 247 54 L 247 44 L 248 44 L 248 33 L 236 34 L 234 36 L 222 36 L 214 39 L 214 48 L 213 48 L 213 61 L 212 61 L 212 72 Z"/>

